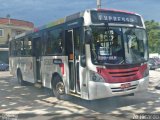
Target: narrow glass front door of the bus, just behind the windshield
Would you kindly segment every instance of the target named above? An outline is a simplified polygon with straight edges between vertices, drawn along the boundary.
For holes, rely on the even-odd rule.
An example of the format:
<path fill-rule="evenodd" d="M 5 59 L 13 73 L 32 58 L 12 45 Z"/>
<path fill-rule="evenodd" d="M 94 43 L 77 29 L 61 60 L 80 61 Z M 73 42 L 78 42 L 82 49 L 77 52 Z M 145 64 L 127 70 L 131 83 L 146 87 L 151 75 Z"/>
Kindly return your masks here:
<path fill-rule="evenodd" d="M 65 32 L 66 54 L 68 55 L 69 66 L 69 89 L 71 93 L 80 94 L 79 80 L 79 46 L 77 46 L 78 29 L 67 30 Z"/>

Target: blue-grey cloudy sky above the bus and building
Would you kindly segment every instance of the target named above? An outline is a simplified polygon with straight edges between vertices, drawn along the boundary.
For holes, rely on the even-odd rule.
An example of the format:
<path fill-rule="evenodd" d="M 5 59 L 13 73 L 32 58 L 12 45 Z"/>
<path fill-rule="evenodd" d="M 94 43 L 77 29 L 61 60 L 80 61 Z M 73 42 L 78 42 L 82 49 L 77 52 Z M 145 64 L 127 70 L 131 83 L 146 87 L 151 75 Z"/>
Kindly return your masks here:
<path fill-rule="evenodd" d="M 139 13 L 145 20 L 160 22 L 160 0 L 101 0 L 102 8 L 113 8 Z M 42 26 L 67 15 L 96 8 L 96 0 L 0 0 L 0 17 L 8 14 L 13 19 Z"/>

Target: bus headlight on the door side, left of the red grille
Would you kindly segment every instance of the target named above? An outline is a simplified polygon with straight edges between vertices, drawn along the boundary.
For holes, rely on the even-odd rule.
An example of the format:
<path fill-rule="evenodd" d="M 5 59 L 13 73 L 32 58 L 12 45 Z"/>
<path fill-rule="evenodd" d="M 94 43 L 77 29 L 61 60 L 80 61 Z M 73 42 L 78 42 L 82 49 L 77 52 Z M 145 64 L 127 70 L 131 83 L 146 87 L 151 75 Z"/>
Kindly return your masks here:
<path fill-rule="evenodd" d="M 94 82 L 105 82 L 104 78 L 96 72 L 90 71 L 90 80 Z"/>

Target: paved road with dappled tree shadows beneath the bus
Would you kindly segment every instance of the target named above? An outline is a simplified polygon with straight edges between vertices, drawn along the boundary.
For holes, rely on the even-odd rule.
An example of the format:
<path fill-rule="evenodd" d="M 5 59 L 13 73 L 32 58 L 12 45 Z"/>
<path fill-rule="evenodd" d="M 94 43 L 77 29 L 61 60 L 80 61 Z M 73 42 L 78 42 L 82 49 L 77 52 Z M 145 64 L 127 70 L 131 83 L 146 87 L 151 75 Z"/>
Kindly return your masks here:
<path fill-rule="evenodd" d="M 0 72 L 0 120 L 128 120 L 141 113 L 160 113 L 160 71 L 150 71 L 148 91 L 135 96 L 86 101 L 69 96 L 57 100 L 51 91 L 20 86 L 9 72 Z"/>

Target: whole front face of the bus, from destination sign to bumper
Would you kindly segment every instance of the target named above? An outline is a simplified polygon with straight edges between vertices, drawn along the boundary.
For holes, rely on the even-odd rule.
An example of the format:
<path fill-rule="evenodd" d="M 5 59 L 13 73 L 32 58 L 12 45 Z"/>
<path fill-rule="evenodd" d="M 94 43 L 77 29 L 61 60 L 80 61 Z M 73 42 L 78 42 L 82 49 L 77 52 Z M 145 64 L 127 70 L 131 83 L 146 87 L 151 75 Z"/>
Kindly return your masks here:
<path fill-rule="evenodd" d="M 86 27 L 89 99 L 127 95 L 148 85 L 148 44 L 140 16 L 92 11 Z"/>

